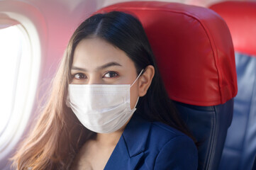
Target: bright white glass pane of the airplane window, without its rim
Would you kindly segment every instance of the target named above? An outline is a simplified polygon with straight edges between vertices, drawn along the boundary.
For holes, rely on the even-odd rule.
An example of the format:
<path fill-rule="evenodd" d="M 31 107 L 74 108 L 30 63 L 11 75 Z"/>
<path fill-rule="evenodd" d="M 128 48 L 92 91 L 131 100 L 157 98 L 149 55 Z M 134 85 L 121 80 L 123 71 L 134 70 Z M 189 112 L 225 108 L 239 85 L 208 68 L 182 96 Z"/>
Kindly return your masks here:
<path fill-rule="evenodd" d="M 15 98 L 16 79 L 20 65 L 22 47 L 22 34 L 16 26 L 0 30 L 0 74 L 3 81 L 0 89 L 1 118 L 0 134 L 9 122 L 12 113 L 13 100 Z"/>

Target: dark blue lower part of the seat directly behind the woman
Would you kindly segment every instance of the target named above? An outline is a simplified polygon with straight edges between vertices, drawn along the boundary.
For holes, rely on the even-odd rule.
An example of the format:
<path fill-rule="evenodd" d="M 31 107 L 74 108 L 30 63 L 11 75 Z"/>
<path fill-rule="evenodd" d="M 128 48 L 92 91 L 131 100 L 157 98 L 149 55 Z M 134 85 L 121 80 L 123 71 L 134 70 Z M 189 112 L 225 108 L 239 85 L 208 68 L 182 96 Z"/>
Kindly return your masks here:
<path fill-rule="evenodd" d="M 199 169 L 218 169 L 233 116 L 233 98 L 218 106 L 192 106 L 176 101 L 174 104 L 197 140 Z"/>

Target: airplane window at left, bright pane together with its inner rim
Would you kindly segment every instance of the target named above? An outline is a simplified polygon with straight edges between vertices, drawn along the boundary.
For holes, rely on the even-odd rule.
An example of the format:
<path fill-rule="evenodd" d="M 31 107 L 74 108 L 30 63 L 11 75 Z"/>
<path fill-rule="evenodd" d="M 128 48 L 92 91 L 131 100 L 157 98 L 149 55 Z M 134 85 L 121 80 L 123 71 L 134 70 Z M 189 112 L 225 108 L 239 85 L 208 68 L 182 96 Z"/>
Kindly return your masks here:
<path fill-rule="evenodd" d="M 32 55 L 30 40 L 21 24 L 0 23 L 0 158 L 18 142 L 32 109 L 29 81 Z"/>

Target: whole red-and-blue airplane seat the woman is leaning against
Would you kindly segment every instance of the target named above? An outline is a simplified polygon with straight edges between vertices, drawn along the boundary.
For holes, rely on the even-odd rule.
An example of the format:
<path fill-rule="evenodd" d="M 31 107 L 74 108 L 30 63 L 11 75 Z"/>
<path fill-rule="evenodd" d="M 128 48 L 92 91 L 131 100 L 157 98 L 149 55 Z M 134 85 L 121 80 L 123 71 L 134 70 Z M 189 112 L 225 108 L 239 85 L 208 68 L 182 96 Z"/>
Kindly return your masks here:
<path fill-rule="evenodd" d="M 199 169 L 217 169 L 237 93 L 226 23 L 208 8 L 160 1 L 123 2 L 96 13 L 108 11 L 139 18 L 169 98 L 198 142 Z"/>

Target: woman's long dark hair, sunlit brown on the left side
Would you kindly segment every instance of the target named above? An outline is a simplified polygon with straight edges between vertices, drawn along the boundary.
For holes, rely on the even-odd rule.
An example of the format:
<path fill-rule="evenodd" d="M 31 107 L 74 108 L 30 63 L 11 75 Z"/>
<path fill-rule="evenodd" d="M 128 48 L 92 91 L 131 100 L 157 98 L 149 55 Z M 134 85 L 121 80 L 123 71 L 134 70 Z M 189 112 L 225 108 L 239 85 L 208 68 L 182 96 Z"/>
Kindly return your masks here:
<path fill-rule="evenodd" d="M 150 121 L 160 121 L 191 136 L 179 118 L 157 69 L 143 26 L 134 16 L 113 11 L 89 17 L 75 30 L 65 55 L 52 81 L 48 102 L 41 111 L 35 128 L 23 141 L 13 157 L 17 169 L 69 169 L 75 155 L 93 132 L 84 128 L 66 106 L 67 86 L 74 50 L 84 38 L 102 38 L 126 52 L 137 72 L 148 65 L 155 67 L 155 77 L 145 96 L 141 97 L 135 114 Z"/>

